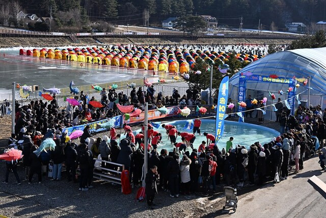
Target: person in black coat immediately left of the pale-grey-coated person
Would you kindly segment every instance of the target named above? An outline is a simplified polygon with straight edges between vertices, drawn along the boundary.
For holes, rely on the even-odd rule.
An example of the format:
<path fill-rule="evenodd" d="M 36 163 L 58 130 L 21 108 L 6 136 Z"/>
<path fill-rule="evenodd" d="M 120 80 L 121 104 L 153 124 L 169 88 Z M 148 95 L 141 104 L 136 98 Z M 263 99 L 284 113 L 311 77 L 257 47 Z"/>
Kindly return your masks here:
<path fill-rule="evenodd" d="M 169 162 L 167 172 L 169 175 L 169 186 L 170 186 L 170 196 L 172 198 L 179 197 L 179 173 L 180 166 L 178 159 L 178 154 L 173 154 L 173 159 Z"/>

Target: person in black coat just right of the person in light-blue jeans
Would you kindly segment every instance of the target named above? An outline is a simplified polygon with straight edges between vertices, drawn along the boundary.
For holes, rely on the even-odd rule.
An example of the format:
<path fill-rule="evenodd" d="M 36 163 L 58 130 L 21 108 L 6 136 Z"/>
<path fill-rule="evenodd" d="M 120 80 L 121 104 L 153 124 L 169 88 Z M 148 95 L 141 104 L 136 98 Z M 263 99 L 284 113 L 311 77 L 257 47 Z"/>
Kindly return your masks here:
<path fill-rule="evenodd" d="M 76 159 L 77 159 L 77 151 L 75 150 L 76 144 L 68 141 L 66 146 L 66 172 L 67 179 L 70 182 L 71 178 L 74 183 L 76 180 Z"/>

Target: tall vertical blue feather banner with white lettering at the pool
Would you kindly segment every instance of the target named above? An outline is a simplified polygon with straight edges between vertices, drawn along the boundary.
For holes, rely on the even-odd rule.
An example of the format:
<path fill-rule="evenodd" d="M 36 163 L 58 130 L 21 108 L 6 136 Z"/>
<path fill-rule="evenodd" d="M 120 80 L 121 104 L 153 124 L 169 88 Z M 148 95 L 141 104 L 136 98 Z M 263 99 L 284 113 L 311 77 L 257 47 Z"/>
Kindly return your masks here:
<path fill-rule="evenodd" d="M 229 77 L 223 78 L 219 88 L 218 107 L 216 108 L 215 143 L 218 143 L 224 131 L 224 114 L 229 94 Z"/>

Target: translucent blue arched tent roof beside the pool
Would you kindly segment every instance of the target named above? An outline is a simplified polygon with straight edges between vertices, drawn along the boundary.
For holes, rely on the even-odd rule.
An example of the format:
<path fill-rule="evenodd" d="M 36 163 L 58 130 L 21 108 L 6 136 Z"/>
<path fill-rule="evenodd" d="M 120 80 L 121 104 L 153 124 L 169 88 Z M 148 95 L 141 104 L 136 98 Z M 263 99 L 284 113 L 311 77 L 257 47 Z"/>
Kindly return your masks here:
<path fill-rule="evenodd" d="M 286 78 L 311 78 L 312 95 L 326 94 L 326 47 L 318 49 L 297 49 L 278 52 L 261 58 L 237 72 L 231 79 L 230 85 L 238 86 L 239 75 L 250 71 L 254 75 L 278 75 Z M 301 83 L 299 83 L 301 84 Z M 263 83 L 248 81 L 247 89 L 277 92 L 286 90 L 287 84 Z M 297 93 L 307 89 L 302 84 Z"/>

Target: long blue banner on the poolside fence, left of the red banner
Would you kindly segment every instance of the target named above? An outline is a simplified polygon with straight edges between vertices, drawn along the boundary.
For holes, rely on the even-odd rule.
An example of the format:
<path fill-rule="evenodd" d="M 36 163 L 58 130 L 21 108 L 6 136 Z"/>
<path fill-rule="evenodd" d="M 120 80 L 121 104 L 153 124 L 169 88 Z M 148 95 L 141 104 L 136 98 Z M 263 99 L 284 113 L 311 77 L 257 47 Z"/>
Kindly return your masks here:
<path fill-rule="evenodd" d="M 114 116 L 111 119 L 114 119 L 114 126 L 113 127 L 120 127 L 120 125 L 123 123 L 123 116 L 122 115 Z M 100 125 L 103 126 L 103 124 L 108 122 L 108 120 L 110 120 L 110 119 L 101 119 L 101 120 L 98 120 L 96 122 L 89 123 L 89 124 L 83 124 L 83 125 L 78 125 L 78 126 L 74 126 L 74 127 L 64 128 L 62 130 L 62 132 L 67 132 L 67 135 L 70 135 L 75 130 L 84 130 L 87 125 L 89 125 L 91 127 L 90 132 L 101 132 L 101 131 L 104 131 L 104 130 L 108 130 L 107 128 L 103 128 L 103 127 L 100 126 Z"/>

